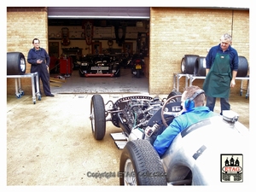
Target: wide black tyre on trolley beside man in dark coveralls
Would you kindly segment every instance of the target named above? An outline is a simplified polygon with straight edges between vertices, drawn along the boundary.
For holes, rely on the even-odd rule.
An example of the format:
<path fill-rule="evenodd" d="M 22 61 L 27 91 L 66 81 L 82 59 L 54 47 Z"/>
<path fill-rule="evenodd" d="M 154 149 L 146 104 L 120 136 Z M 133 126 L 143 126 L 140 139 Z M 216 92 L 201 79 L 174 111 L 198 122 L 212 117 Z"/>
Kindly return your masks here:
<path fill-rule="evenodd" d="M 20 52 L 7 53 L 7 75 L 22 75 L 26 73 L 25 56 Z"/>

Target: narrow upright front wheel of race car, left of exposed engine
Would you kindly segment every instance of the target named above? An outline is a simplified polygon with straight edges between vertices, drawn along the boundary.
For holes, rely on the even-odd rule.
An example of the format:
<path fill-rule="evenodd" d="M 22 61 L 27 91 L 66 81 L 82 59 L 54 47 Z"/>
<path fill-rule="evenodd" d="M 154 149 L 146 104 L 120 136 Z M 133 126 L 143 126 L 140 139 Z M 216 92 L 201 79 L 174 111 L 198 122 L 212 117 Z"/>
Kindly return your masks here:
<path fill-rule="evenodd" d="M 102 140 L 106 132 L 105 104 L 101 95 L 94 95 L 90 101 L 91 131 L 96 140 Z"/>

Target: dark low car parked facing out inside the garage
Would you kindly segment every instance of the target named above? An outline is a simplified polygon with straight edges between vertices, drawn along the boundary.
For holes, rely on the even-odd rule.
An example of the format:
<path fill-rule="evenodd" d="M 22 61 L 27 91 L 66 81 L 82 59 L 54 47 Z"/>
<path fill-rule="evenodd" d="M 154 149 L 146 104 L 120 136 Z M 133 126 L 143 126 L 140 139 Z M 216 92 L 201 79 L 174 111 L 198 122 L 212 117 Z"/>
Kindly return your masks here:
<path fill-rule="evenodd" d="M 79 68 L 80 77 L 119 77 L 119 62 L 113 55 L 85 55 Z"/>

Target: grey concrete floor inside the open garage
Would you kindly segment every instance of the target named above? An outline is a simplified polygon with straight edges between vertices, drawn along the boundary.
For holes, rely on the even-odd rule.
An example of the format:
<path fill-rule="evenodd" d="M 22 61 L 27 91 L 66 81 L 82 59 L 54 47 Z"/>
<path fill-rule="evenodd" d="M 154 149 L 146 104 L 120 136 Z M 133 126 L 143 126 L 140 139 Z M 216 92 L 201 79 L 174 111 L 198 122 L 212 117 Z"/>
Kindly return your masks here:
<path fill-rule="evenodd" d="M 51 74 L 56 77 L 59 74 Z M 52 86 L 53 93 L 135 93 L 148 94 L 148 79 L 144 76 L 137 79 L 131 74 L 131 68 L 121 68 L 119 78 L 79 77 L 79 71 L 74 70 L 70 78 L 61 87 Z"/>

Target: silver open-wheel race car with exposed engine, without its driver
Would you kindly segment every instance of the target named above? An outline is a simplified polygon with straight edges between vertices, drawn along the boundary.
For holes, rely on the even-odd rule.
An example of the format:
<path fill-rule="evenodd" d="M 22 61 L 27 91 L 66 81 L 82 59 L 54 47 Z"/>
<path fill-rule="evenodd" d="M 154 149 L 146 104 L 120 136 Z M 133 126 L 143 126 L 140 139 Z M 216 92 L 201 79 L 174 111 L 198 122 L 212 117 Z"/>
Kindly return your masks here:
<path fill-rule="evenodd" d="M 243 183 L 249 131 L 238 121 L 238 114 L 230 110 L 181 131 L 160 158 L 152 138 L 180 113 L 181 93 L 177 91 L 164 99 L 125 96 L 106 104 L 101 95 L 91 97 L 90 120 L 95 139 L 105 136 L 106 121 L 121 129 L 110 134 L 116 146 L 123 149 L 120 185 Z"/>

